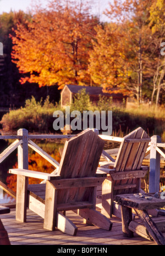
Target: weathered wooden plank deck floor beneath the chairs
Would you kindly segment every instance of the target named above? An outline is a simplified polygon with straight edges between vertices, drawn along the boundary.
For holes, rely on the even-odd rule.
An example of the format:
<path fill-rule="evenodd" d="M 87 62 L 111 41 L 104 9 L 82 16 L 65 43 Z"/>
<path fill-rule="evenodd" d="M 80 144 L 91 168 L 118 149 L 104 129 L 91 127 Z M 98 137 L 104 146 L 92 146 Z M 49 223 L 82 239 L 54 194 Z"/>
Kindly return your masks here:
<path fill-rule="evenodd" d="M 106 245 L 155 245 L 155 242 L 136 234 L 133 238 L 123 237 L 122 222 L 117 217 L 111 218 L 112 230 L 105 231 L 83 223 L 83 218 L 73 211 L 68 211 L 67 216 L 78 227 L 76 236 L 69 236 L 58 229 L 56 231 L 43 229 L 43 218 L 30 210 L 27 210 L 26 223 L 15 220 L 15 208 L 11 208 L 10 213 L 0 217 L 12 245 L 90 245 L 90 247 L 96 247 L 96 245 L 103 247 Z"/>

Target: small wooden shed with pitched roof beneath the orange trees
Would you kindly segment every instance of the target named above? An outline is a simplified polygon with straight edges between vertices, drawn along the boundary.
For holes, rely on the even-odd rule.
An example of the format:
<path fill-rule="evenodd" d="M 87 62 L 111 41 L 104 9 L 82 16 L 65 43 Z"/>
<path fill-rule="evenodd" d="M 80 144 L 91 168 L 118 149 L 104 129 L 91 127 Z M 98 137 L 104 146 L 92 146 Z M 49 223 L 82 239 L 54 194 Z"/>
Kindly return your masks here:
<path fill-rule="evenodd" d="M 65 85 L 62 92 L 61 92 L 61 106 L 70 106 L 73 101 L 73 96 L 76 93 L 80 92 L 80 90 L 84 89 L 86 93 L 90 96 L 90 101 L 97 103 L 99 100 L 100 95 L 112 98 L 113 103 L 117 105 L 123 104 L 123 100 L 126 104 L 127 96 L 123 96 L 122 93 L 105 93 L 102 91 L 102 87 L 94 87 L 94 86 L 80 86 L 80 85 Z"/>

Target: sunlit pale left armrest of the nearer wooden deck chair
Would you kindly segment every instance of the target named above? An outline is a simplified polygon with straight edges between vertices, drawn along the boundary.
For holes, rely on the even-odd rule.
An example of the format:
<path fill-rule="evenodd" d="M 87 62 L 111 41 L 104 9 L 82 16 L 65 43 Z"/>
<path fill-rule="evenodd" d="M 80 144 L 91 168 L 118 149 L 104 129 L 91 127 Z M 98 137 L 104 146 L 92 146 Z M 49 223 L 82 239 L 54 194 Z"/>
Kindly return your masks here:
<path fill-rule="evenodd" d="M 16 175 L 22 175 L 22 176 L 26 176 L 26 177 L 34 177 L 36 179 L 41 179 L 41 180 L 59 180 L 59 179 L 61 179 L 61 176 L 57 176 L 54 174 L 41 173 L 41 171 L 31 171 L 31 170 L 25 170 L 25 169 L 9 169 L 9 173 L 16 174 Z"/>

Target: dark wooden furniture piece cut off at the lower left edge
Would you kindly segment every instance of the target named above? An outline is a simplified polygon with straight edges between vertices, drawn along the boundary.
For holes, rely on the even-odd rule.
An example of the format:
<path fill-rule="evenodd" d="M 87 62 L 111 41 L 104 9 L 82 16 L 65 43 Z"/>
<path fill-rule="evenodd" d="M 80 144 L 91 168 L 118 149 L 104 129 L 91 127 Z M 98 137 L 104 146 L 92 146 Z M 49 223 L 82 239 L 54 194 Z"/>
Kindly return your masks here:
<path fill-rule="evenodd" d="M 0 206 L 0 215 L 1 214 L 6 214 L 6 213 L 9 213 L 9 212 L 10 212 L 10 208 Z M 5 230 L 1 219 L 0 219 L 0 245 L 10 245 L 8 233 Z"/>

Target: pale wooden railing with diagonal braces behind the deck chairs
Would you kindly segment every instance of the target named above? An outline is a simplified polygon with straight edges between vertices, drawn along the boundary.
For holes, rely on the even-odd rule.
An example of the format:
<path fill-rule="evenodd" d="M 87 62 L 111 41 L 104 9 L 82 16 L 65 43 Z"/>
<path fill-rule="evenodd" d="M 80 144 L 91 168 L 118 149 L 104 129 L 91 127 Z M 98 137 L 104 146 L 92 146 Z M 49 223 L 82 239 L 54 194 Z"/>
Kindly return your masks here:
<path fill-rule="evenodd" d="M 98 133 L 97 130 L 95 132 Z M 18 148 L 18 168 L 28 169 L 28 147 L 35 150 L 43 158 L 49 161 L 55 168 L 53 173 L 57 170 L 59 163 L 47 154 L 43 149 L 38 147 L 37 144 L 32 142 L 32 139 L 69 139 L 74 135 L 50 135 L 50 134 L 41 134 L 41 135 L 31 135 L 28 134 L 26 129 L 19 129 L 17 135 L 0 135 L 0 139 L 15 139 L 15 141 L 9 145 L 0 154 L 0 163 L 8 157 L 15 149 Z M 99 135 L 104 140 L 109 140 L 111 142 L 122 142 L 123 138 L 108 136 L 108 135 Z M 165 159 L 165 143 L 161 143 L 161 137 L 153 135 L 151 137 L 151 142 L 149 142 L 149 147 L 146 150 L 146 155 L 150 154 L 150 177 L 149 177 L 149 192 L 158 192 L 160 190 L 160 159 L 161 155 Z M 146 156 L 145 155 L 145 156 Z M 105 159 L 114 161 L 111 156 L 106 154 L 106 151 L 103 151 L 102 156 Z M 24 179 L 27 179 L 24 177 Z M 0 187 L 7 192 L 10 196 L 16 198 L 15 192 L 13 192 L 9 187 L 3 184 L 0 181 Z"/>

